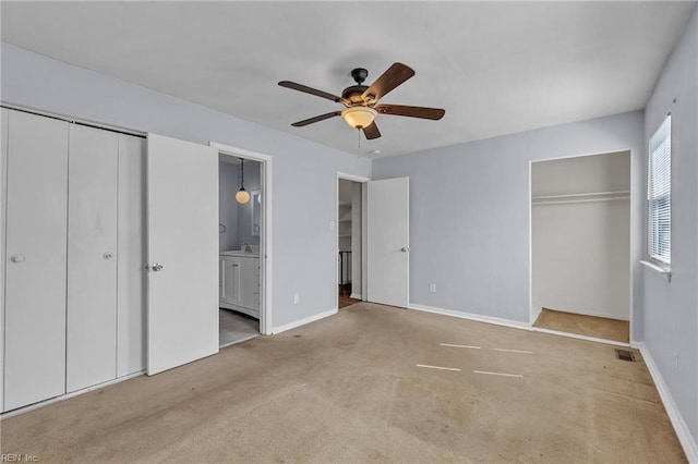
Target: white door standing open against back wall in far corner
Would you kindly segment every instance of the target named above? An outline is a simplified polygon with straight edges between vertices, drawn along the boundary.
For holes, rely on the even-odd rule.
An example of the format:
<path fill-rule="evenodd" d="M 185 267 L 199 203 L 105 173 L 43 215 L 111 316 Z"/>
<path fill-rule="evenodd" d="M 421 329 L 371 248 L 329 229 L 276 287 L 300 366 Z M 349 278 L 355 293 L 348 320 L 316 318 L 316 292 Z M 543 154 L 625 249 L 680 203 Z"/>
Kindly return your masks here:
<path fill-rule="evenodd" d="M 407 307 L 410 293 L 410 180 L 387 179 L 366 185 L 366 300 Z"/>

